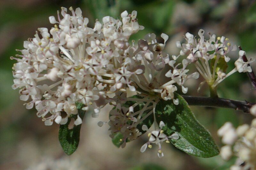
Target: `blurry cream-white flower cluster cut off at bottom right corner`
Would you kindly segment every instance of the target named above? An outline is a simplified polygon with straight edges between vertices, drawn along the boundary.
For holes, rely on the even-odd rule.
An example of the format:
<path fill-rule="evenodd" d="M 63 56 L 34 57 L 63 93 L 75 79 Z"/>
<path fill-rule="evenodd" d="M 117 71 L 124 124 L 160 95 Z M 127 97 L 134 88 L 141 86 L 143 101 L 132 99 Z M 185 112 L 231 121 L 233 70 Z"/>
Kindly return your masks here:
<path fill-rule="evenodd" d="M 230 122 L 226 122 L 219 130 L 222 143 L 226 144 L 220 149 L 220 156 L 224 160 L 233 155 L 237 157 L 231 170 L 247 170 L 256 168 L 256 119 L 251 126 L 244 124 L 236 129 Z"/>

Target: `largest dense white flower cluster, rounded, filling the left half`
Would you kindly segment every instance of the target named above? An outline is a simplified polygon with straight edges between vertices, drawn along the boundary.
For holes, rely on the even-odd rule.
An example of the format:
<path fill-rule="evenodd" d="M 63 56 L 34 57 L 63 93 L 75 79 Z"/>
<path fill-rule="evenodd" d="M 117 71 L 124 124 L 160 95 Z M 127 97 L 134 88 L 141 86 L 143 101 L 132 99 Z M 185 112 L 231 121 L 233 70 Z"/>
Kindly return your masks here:
<path fill-rule="evenodd" d="M 147 34 L 138 45 L 134 41 L 129 44 L 130 36 L 143 29 L 137 22 L 136 11 L 124 11 L 122 21 L 103 17 L 102 22 L 96 20 L 94 28 L 90 28 L 80 8 L 69 10 L 71 14 L 62 7 L 57 19 L 49 17 L 54 27 L 50 31 L 38 28 L 34 38 L 24 41 L 25 49 L 17 50 L 21 54 L 11 57 L 18 62 L 13 66 L 12 88 L 20 88 L 20 99 L 29 100 L 26 108 L 35 106 L 45 125 L 52 125 L 53 121 L 67 123 L 70 115 L 78 113 L 76 102 L 84 104 L 83 110 L 92 109 L 96 117 L 106 103 L 116 101 L 108 94 L 118 95 L 126 88 L 172 100 L 173 92 L 177 91 L 174 83 L 186 93 L 184 82 L 198 78 L 198 73 L 187 76 L 187 60 L 179 69 L 179 64 L 174 66 L 175 61 L 170 61 L 163 52 L 168 40 L 164 33 L 163 43 L 156 41 L 155 34 Z M 161 85 L 160 74 L 168 63 L 173 70 L 166 76 L 172 80 Z M 178 104 L 177 99 L 173 102 Z M 118 103 L 117 106 L 120 108 Z M 63 111 L 66 114 L 61 114 Z M 80 123 L 78 115 L 75 124 Z"/>

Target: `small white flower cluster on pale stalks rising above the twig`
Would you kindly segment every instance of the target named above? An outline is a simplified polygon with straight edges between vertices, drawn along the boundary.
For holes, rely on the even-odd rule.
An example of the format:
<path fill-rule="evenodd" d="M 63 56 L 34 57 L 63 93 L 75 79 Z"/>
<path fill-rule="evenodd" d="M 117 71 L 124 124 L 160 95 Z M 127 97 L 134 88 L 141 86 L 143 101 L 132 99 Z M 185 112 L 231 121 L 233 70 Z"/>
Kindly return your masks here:
<path fill-rule="evenodd" d="M 220 62 L 221 58 L 223 58 L 225 62 L 229 62 L 230 58 L 227 54 L 230 51 L 235 51 L 236 46 L 232 46 L 228 42 L 228 38 L 221 36 L 216 39 L 216 35 L 212 35 L 211 33 L 209 33 L 209 40 L 205 40 L 203 29 L 199 30 L 198 35 L 199 38 L 197 39 L 196 36 L 191 33 L 186 33 L 184 36 L 186 43 L 181 44 L 180 41 L 177 41 L 176 45 L 178 48 L 181 48 L 180 55 L 187 55 L 188 62 L 195 64 L 198 72 L 213 88 L 236 71 L 252 71 L 248 64 L 253 60 L 250 59 L 248 62 L 244 62 L 242 56 L 245 55 L 245 52 L 240 50 L 239 58 L 235 62 L 236 67 L 226 74 L 226 70 L 221 70 L 221 68 L 218 68 L 217 64 Z M 176 60 L 180 55 L 172 55 L 172 58 Z M 210 66 L 209 61 L 212 62 L 212 66 Z"/>

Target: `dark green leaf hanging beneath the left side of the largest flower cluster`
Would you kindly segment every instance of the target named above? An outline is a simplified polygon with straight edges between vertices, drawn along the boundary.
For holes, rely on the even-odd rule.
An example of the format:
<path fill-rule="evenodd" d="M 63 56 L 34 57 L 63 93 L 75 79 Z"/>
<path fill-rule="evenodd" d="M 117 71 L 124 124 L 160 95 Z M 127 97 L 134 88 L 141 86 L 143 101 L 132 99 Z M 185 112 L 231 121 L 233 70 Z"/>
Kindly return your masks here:
<path fill-rule="evenodd" d="M 78 109 L 78 115 L 79 117 L 83 120 L 85 111 L 82 110 L 83 104 L 81 103 L 76 103 L 76 107 Z M 63 149 L 63 151 L 67 155 L 71 155 L 74 153 L 78 147 L 79 144 L 79 138 L 80 138 L 80 129 L 82 124 L 80 125 L 74 125 L 72 129 L 68 129 L 68 125 L 71 121 L 71 118 L 76 119 L 77 115 L 71 115 L 68 118 L 68 122 L 64 125 L 60 125 L 59 129 L 59 141 L 60 145 Z"/>

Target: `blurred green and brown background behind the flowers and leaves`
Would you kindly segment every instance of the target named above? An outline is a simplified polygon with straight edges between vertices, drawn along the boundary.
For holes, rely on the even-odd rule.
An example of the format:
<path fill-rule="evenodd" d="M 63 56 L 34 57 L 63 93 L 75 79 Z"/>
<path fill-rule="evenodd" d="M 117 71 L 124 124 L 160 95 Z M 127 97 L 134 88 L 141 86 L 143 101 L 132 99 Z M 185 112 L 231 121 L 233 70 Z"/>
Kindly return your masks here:
<path fill-rule="evenodd" d="M 81 7 L 90 26 L 96 18 L 110 15 L 118 18 L 124 10 L 138 11 L 138 21 L 145 29 L 132 36 L 143 38 L 147 33 L 169 35 L 166 52 L 178 54 L 175 42 L 186 32 L 225 35 L 233 44 L 241 45 L 248 57 L 256 54 L 256 3 L 252 0 L 0 0 L 0 169 L 227 169 L 234 159 L 224 162 L 219 156 L 201 159 L 188 156 L 164 144 L 164 158 L 159 159 L 156 147 L 140 153 L 146 137 L 116 148 L 108 137 L 108 127 L 97 126 L 107 120 L 102 111 L 98 119 L 86 117 L 81 141 L 72 156 L 66 156 L 58 143 L 58 125 L 45 127 L 36 110 L 26 110 L 18 90 L 12 90 L 10 56 L 22 49 L 23 41 L 33 37 L 38 27 L 51 28 L 48 17 L 56 16 L 61 6 Z M 234 68 L 238 52 L 231 53 L 228 70 Z M 255 63 L 252 64 L 256 71 Z M 193 70 L 193 68 L 191 68 Z M 200 79 L 202 80 L 202 79 Z M 197 92 L 200 81 L 189 81 L 189 95 L 206 96 L 206 85 Z M 236 73 L 219 86 L 219 95 L 236 100 L 255 102 L 255 91 L 244 73 Z M 216 130 L 226 121 L 235 126 L 250 122 L 252 116 L 221 108 L 192 107 L 198 120 L 212 133 L 221 146 Z"/>

